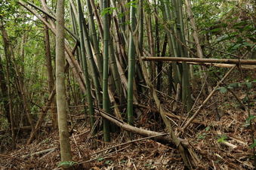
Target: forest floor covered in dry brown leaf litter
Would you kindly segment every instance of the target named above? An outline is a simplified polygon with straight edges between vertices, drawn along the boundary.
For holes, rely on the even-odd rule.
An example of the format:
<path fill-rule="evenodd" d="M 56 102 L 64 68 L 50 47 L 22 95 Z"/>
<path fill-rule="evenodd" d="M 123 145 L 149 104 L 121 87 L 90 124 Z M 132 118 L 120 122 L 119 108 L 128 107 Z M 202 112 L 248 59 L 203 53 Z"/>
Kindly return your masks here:
<path fill-rule="evenodd" d="M 254 75 L 256 76 L 256 75 Z M 229 83 L 240 83 L 237 78 L 230 77 Z M 255 77 L 253 77 L 255 80 Z M 228 83 L 228 84 L 229 84 Z M 254 169 L 253 148 L 250 147 L 255 138 L 255 119 L 251 118 L 248 124 L 248 98 L 250 114 L 256 116 L 256 86 L 246 83 L 239 88 L 233 88 L 238 99 L 244 103 L 245 109 L 239 105 L 232 93 L 222 89 L 213 96 L 199 116 L 197 123 L 192 123 L 188 132 L 183 136 L 193 148 L 196 169 Z M 233 84 L 233 86 L 235 86 Z M 246 94 L 250 93 L 248 96 Z M 195 93 L 198 94 L 198 93 Z M 173 102 L 165 96 L 159 96 L 165 111 L 171 114 L 184 115 L 181 105 L 173 111 Z M 247 98 L 248 97 L 248 98 Z M 198 107 L 203 97 L 199 98 Z M 149 101 L 143 101 L 149 103 Z M 164 126 L 159 114 L 152 109 L 140 108 L 142 115 L 136 126 L 160 132 Z M 124 144 L 131 140 L 128 133 L 119 129 L 118 135 L 113 134 L 113 141 L 104 144 L 102 134 L 91 137 L 89 129 L 85 126 L 85 116 L 81 113 L 72 117 L 74 128 L 70 136 L 72 158 L 77 169 L 184 169 L 184 163 L 174 144 L 163 144 L 152 139 L 143 139 Z M 101 119 L 99 119 L 101 120 Z M 174 126 L 180 126 L 183 120 L 170 117 Z M 60 163 L 60 147 L 57 130 L 42 128 L 38 139 L 26 145 L 25 132 L 19 136 L 17 149 L 1 144 L 5 151 L 0 154 L 1 169 L 58 169 Z M 133 140 L 143 138 L 133 135 Z M 2 149 L 3 150 L 3 149 Z"/>

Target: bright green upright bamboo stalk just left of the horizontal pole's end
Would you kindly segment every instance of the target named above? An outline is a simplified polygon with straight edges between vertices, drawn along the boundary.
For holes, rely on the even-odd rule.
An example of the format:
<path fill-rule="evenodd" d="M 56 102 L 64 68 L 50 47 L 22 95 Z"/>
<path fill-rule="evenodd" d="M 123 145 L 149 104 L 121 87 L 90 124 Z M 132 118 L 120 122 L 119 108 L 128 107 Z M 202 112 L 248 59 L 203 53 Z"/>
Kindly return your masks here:
<path fill-rule="evenodd" d="M 127 116 L 128 123 L 133 124 L 133 83 L 134 83 L 134 69 L 135 69 L 135 46 L 133 40 L 133 32 L 135 30 L 135 12 L 136 8 L 131 5 L 130 7 L 130 21 L 131 21 L 131 32 L 129 35 L 129 50 L 128 50 L 128 99 L 127 99 Z"/>

